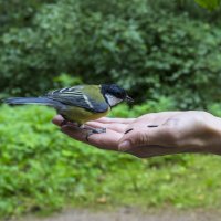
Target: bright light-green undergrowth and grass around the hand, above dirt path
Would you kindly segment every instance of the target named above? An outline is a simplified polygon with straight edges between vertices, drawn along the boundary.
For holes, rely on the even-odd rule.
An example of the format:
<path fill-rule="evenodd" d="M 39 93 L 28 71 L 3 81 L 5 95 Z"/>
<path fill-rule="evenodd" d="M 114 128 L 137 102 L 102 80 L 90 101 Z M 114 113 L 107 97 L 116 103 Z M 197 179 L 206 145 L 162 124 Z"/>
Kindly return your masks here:
<path fill-rule="evenodd" d="M 118 106 L 112 115 L 135 117 L 170 108 L 172 101 L 161 97 L 133 109 Z M 50 212 L 67 203 L 220 206 L 219 158 L 177 155 L 141 160 L 106 152 L 60 133 L 50 123 L 53 115 L 46 107 L 0 107 L 0 217 Z"/>

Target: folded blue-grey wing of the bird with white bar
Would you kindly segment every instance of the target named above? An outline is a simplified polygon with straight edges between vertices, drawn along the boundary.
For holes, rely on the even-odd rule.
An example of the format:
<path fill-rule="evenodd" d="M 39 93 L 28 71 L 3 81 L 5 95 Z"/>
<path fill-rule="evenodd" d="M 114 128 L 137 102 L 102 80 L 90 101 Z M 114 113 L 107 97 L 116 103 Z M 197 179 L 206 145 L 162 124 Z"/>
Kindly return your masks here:
<path fill-rule="evenodd" d="M 84 86 L 65 87 L 49 92 L 45 96 L 51 99 L 59 101 L 62 104 L 82 107 L 95 113 L 103 113 L 109 108 L 104 98 L 103 101 L 99 99 L 98 102 L 94 101 L 83 90 Z"/>

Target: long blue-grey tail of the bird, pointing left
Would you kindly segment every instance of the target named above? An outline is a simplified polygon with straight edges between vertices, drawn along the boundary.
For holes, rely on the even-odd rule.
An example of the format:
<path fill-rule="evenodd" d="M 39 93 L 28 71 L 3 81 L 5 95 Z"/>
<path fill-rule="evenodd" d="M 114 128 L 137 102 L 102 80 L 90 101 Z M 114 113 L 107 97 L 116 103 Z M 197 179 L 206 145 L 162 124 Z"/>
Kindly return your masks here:
<path fill-rule="evenodd" d="M 40 104 L 46 106 L 56 106 L 57 102 L 48 97 L 11 97 L 3 99 L 3 103 L 9 105 Z"/>

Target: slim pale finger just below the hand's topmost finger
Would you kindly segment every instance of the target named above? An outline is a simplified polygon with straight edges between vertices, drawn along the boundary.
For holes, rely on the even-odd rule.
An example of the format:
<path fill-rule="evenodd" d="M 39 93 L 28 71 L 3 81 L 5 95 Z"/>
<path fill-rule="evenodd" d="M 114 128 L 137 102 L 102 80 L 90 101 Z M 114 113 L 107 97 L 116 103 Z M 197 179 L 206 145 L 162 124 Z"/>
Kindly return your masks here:
<path fill-rule="evenodd" d="M 106 129 L 110 129 L 110 130 L 114 130 L 114 131 L 117 131 L 117 133 L 122 133 L 122 134 L 127 128 L 127 125 L 118 124 L 118 123 L 115 123 L 115 124 L 103 124 L 103 123 L 99 123 L 99 122 L 88 122 L 88 123 L 86 123 L 86 125 L 95 127 L 95 128 L 106 128 Z"/>

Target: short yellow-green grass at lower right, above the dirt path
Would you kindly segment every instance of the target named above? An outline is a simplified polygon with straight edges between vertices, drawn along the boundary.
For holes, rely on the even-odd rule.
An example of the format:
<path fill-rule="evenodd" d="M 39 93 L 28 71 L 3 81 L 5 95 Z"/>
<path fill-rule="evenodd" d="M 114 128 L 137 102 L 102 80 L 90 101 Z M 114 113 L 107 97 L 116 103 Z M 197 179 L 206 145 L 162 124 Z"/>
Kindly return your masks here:
<path fill-rule="evenodd" d="M 122 164 L 122 168 L 118 162 L 115 171 L 101 175 L 98 181 L 90 181 L 82 200 L 75 203 L 84 207 L 218 209 L 221 203 L 220 157 L 186 155 L 181 158 L 186 158 L 185 165 L 178 160 L 158 167 L 152 159 L 147 159 Z"/>

